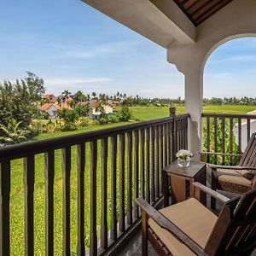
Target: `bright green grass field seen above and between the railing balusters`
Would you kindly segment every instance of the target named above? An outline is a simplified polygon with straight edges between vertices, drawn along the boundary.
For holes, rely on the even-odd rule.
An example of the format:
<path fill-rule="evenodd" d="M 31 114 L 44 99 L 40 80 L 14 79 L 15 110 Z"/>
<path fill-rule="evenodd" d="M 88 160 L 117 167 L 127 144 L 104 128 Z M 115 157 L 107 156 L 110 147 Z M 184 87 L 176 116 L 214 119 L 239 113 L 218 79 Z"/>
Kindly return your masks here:
<path fill-rule="evenodd" d="M 254 110 L 250 106 L 206 106 L 204 112 L 207 113 L 247 113 Z M 169 115 L 169 108 L 157 107 L 132 107 L 132 114 L 136 119 L 148 120 L 159 119 Z M 178 107 L 177 113 L 183 113 L 184 108 Z M 35 137 L 34 140 L 47 139 L 52 137 L 66 136 L 78 132 L 95 131 L 98 129 L 109 128 L 126 123 L 95 125 L 85 127 L 77 131 L 53 132 L 42 134 Z M 119 148 L 119 145 L 118 145 Z M 110 141 L 108 142 L 108 152 L 110 153 Z M 71 170 L 71 247 L 76 252 L 77 245 L 77 166 L 76 166 L 76 147 L 72 147 L 72 170 Z M 100 142 L 98 143 L 98 163 L 97 163 L 97 230 L 100 230 L 101 224 L 101 161 L 100 161 Z M 89 144 L 85 146 L 85 244 L 89 245 L 90 234 L 90 148 Z M 125 160 L 125 166 L 127 160 Z M 119 150 L 117 155 L 117 170 L 119 170 Z M 125 174 L 125 182 L 127 176 Z M 11 163 L 11 254 L 24 254 L 24 185 L 23 185 L 23 162 L 22 160 L 13 160 Z M 61 174 L 61 150 L 55 151 L 55 255 L 61 255 L 62 248 L 62 174 Z M 110 160 L 108 160 L 108 227 L 110 224 L 110 193 L 111 193 L 111 170 Z M 125 186 L 126 188 L 126 186 Z M 127 192 L 125 191 L 125 195 Z M 35 255 L 44 254 L 44 234 L 45 234 L 45 216 L 44 216 L 44 154 L 38 154 L 35 161 Z M 119 207 L 119 171 L 117 172 L 117 206 Z M 119 212 L 119 208 L 118 208 Z"/>

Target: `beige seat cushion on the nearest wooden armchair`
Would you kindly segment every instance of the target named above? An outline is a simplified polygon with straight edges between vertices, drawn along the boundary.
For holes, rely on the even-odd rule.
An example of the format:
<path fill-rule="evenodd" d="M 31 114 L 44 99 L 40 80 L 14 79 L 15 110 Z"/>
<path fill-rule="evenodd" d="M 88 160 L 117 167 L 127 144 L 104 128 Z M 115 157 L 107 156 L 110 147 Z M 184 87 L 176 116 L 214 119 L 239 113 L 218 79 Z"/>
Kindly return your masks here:
<path fill-rule="evenodd" d="M 160 212 L 203 248 L 206 246 L 208 237 L 217 221 L 217 217 L 195 198 L 166 207 Z M 169 231 L 156 224 L 152 218 L 148 219 L 148 225 L 166 244 L 173 256 L 195 255 Z"/>

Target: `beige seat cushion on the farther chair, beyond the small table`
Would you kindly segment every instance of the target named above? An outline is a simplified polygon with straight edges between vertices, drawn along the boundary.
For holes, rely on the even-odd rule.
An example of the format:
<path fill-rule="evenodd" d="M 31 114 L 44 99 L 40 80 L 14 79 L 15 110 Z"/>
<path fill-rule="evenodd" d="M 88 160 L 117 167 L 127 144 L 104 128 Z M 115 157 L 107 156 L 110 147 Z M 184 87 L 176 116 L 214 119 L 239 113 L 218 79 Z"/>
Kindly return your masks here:
<path fill-rule="evenodd" d="M 218 169 L 217 177 L 219 182 L 233 183 L 241 186 L 252 187 L 252 181 L 243 177 L 236 170 Z"/>

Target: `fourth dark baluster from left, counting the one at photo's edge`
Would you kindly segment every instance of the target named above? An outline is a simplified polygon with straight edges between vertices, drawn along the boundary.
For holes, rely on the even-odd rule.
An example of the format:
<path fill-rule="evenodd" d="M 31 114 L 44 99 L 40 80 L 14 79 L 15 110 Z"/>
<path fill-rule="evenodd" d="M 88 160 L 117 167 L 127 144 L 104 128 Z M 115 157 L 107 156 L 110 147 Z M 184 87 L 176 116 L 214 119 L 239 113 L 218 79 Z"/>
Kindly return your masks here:
<path fill-rule="evenodd" d="M 71 148 L 62 148 L 62 187 L 63 187 L 63 255 L 70 255 L 70 171 Z"/>

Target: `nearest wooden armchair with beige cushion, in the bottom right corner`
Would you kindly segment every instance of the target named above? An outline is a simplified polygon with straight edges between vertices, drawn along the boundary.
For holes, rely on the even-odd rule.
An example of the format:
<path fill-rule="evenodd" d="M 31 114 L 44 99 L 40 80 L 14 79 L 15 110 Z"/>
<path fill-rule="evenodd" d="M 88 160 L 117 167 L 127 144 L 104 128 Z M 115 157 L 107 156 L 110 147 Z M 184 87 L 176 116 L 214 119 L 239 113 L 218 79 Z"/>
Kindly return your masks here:
<path fill-rule="evenodd" d="M 218 217 L 201 200 L 201 191 L 224 207 Z M 256 245 L 256 189 L 236 198 L 193 183 L 193 197 L 157 211 L 142 198 L 143 256 L 148 241 L 159 255 L 249 255 Z"/>

